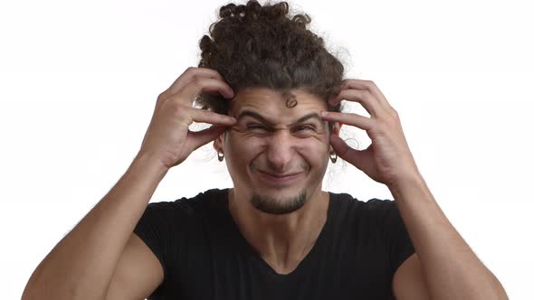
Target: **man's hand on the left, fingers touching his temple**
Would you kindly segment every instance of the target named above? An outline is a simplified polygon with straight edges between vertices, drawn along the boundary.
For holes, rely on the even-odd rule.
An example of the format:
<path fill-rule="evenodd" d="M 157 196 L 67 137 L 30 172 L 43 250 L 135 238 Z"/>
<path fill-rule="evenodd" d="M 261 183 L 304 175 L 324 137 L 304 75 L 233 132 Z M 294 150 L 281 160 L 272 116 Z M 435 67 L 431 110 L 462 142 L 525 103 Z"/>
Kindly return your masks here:
<path fill-rule="evenodd" d="M 148 155 L 170 169 L 234 125 L 234 117 L 192 107 L 195 97 L 202 91 L 219 92 L 224 98 L 234 98 L 234 91 L 216 70 L 188 68 L 157 97 L 154 115 L 138 156 Z M 190 131 L 189 125 L 193 122 L 214 126 L 198 132 Z"/>

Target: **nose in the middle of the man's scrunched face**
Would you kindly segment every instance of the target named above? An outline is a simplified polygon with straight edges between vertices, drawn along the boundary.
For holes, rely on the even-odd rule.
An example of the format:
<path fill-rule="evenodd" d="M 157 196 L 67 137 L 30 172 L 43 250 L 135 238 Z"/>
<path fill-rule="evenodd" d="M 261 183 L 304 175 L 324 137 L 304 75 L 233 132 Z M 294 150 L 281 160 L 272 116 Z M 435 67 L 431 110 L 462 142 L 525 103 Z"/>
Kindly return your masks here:
<path fill-rule="evenodd" d="M 276 173 L 291 172 L 295 142 L 288 130 L 276 130 L 267 143 L 267 164 Z"/>

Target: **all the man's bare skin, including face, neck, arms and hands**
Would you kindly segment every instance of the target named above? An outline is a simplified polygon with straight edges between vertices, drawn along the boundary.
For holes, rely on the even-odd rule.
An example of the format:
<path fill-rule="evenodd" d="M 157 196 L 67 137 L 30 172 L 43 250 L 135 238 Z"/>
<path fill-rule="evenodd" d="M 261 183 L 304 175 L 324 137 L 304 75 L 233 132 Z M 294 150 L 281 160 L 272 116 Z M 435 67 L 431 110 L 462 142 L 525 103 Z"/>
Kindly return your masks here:
<path fill-rule="evenodd" d="M 168 170 L 214 139 L 215 149 L 226 155 L 235 183 L 230 194 L 234 220 L 243 236 L 277 272 L 291 272 L 324 225 L 327 194 L 319 187 L 331 145 L 349 164 L 387 185 L 405 221 L 416 253 L 393 277 L 396 299 L 508 299 L 499 280 L 483 266 L 435 202 L 417 171 L 396 110 L 372 81 L 345 80 L 339 95 L 329 99 L 332 106 L 341 100 L 359 102 L 371 117 L 323 115 L 325 121 L 366 130 L 372 144 L 361 151 L 339 138 L 340 125 L 328 138 L 327 132 L 300 136 L 295 125 L 289 126 L 309 111 L 326 108 L 324 102 L 314 102 L 318 99 L 311 95 L 295 90 L 299 104 L 288 110 L 275 100 L 277 94 L 272 90 L 240 94 L 232 113 L 255 105 L 254 109 L 265 108 L 262 113 L 268 112 L 266 117 L 272 118 L 268 134 L 258 135 L 247 131 L 250 127 L 240 129 L 234 117 L 193 108 L 195 97 L 202 91 L 224 98 L 235 96 L 218 72 L 205 68 L 188 68 L 162 92 L 127 173 L 43 259 L 25 287 L 23 299 L 72 299 L 81 295 L 94 299 L 146 298 L 164 280 L 163 269 L 132 230 Z M 188 127 L 193 122 L 213 126 L 191 131 Z M 260 170 L 302 172 L 291 186 L 278 183 L 273 188 L 272 183 L 259 183 Z M 291 212 L 272 214 L 259 211 L 250 202 L 252 191 L 272 196 L 263 200 L 274 204 L 293 202 L 302 191 L 307 198 L 300 208 L 292 206 L 293 211 L 286 210 Z"/>

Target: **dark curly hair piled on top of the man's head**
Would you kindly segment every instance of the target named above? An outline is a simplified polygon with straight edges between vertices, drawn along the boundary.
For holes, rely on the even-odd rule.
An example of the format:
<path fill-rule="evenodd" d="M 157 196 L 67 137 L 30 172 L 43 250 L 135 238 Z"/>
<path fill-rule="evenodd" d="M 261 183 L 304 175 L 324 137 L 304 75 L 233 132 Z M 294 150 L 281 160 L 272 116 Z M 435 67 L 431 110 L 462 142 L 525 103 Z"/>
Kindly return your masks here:
<path fill-rule="evenodd" d="M 339 92 L 343 65 L 330 54 L 322 38 L 306 26 L 308 14 L 290 18 L 286 2 L 260 5 L 224 5 L 219 20 L 212 23 L 209 35 L 199 42 L 198 67 L 217 70 L 234 89 L 270 88 L 291 102 L 291 89 L 304 89 L 328 100 Z M 222 96 L 202 93 L 198 105 L 219 114 L 228 114 L 229 101 Z M 339 105 L 330 111 L 340 111 Z M 329 124 L 332 129 L 333 124 Z"/>

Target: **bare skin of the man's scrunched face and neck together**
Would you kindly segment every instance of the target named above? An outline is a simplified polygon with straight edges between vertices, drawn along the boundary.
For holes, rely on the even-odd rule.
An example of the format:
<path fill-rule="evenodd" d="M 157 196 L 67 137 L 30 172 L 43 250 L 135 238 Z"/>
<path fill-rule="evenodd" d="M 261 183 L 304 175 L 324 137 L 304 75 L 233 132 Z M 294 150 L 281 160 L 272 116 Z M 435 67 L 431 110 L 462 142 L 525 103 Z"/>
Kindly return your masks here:
<path fill-rule="evenodd" d="M 237 122 L 214 143 L 234 182 L 229 193 L 234 221 L 280 274 L 298 266 L 326 221 L 329 194 L 321 185 L 333 151 L 328 122 L 320 117 L 326 101 L 300 89 L 291 92 L 298 101 L 294 108 L 275 90 L 240 90 L 229 111 Z M 335 126 L 332 135 L 338 134 Z M 295 175 L 279 182 L 281 178 L 273 180 L 265 173 Z M 301 194 L 305 196 L 299 203 Z M 262 211 L 253 199 L 278 212 Z"/>

